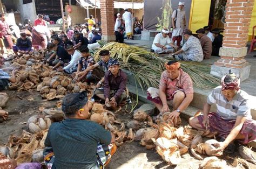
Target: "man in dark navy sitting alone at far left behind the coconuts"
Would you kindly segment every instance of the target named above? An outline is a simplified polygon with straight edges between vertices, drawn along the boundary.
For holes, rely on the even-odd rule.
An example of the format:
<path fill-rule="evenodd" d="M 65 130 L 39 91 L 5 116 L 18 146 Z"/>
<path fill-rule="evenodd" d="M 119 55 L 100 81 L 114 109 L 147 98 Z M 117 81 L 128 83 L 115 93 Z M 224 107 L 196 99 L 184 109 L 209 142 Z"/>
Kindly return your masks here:
<path fill-rule="evenodd" d="M 20 34 L 21 38 L 18 38 L 16 46 L 12 46 L 12 50 L 14 50 L 17 57 L 19 57 L 19 54 L 29 53 L 32 48 L 31 40 L 26 37 L 26 32 L 21 32 Z"/>

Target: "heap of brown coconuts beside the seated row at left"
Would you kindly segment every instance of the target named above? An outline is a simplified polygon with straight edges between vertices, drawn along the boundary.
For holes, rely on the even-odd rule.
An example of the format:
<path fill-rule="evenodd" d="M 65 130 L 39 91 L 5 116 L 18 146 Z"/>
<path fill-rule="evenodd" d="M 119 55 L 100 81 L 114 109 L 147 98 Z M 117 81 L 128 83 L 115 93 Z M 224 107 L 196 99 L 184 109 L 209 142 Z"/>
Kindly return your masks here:
<path fill-rule="evenodd" d="M 12 83 L 9 88 L 18 91 L 36 89 L 47 100 L 62 98 L 68 93 L 79 93 L 90 88 L 86 83 L 72 83 L 68 74 L 53 71 L 51 66 L 43 62 L 45 54 L 48 52 L 35 51 L 14 59 L 12 66 L 19 71 L 16 74 L 16 83 Z"/>

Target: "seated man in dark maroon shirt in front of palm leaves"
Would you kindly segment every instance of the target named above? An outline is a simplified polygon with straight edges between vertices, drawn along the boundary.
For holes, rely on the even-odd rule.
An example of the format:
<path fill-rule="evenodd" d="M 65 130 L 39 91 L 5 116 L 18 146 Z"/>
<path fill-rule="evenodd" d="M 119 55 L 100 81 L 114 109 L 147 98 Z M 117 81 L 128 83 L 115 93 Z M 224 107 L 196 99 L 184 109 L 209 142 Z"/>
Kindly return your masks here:
<path fill-rule="evenodd" d="M 118 105 L 126 98 L 126 74 L 120 69 L 120 63 L 113 59 L 109 64 L 109 71 L 104 76 L 104 91 L 97 89 L 95 95 L 102 100 L 105 104 Z"/>

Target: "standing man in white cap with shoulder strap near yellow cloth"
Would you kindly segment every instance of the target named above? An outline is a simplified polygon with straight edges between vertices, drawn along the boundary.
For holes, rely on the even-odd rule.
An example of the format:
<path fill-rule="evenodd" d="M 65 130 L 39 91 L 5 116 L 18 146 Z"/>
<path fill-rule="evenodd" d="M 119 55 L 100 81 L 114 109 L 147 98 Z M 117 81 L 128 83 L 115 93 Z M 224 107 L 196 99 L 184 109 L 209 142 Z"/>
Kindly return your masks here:
<path fill-rule="evenodd" d="M 186 12 L 184 10 L 185 2 L 179 2 L 179 8 L 172 13 L 172 43 L 177 40 L 177 46 L 180 46 L 183 30 L 186 27 Z"/>

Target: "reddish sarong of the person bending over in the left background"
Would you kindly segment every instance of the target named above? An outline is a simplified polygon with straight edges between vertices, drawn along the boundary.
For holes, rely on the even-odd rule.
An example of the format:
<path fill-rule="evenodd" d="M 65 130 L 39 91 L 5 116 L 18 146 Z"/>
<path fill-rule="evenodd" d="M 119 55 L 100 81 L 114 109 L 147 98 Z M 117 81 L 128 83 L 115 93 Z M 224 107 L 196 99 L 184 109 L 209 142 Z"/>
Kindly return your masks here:
<path fill-rule="evenodd" d="M 32 46 L 35 49 L 46 48 L 47 42 L 45 41 L 44 35 L 37 32 L 35 29 L 32 30 Z"/>

